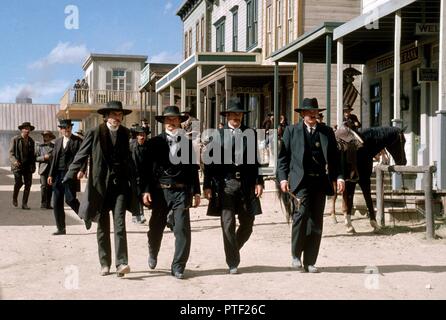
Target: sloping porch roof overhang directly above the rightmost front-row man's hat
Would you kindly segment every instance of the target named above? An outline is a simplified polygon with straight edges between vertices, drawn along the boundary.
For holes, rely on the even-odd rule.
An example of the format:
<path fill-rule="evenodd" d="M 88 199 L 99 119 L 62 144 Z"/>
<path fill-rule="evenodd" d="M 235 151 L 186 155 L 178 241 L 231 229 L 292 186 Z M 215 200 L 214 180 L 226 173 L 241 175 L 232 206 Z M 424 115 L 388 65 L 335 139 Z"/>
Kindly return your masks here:
<path fill-rule="evenodd" d="M 271 60 L 273 62 L 296 63 L 298 53 L 302 52 L 304 62 L 324 63 L 326 36 L 332 35 L 333 30 L 340 25 L 342 25 L 342 22 L 324 22 L 319 27 L 304 33 L 282 49 L 275 51 L 271 55 Z"/>

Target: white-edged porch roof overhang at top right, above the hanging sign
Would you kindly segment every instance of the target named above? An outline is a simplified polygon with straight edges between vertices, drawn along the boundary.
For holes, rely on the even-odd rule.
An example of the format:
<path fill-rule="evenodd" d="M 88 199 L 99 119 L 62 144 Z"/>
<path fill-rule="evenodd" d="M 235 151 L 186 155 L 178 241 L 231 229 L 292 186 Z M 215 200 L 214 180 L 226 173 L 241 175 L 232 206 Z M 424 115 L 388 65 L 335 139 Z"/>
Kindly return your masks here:
<path fill-rule="evenodd" d="M 440 21 L 440 0 L 388 1 L 334 30 L 333 40 L 343 40 L 344 63 L 364 64 L 393 51 L 395 12 L 398 10 L 401 12 L 402 47 L 426 38 L 426 35 L 415 33 L 417 23 Z"/>

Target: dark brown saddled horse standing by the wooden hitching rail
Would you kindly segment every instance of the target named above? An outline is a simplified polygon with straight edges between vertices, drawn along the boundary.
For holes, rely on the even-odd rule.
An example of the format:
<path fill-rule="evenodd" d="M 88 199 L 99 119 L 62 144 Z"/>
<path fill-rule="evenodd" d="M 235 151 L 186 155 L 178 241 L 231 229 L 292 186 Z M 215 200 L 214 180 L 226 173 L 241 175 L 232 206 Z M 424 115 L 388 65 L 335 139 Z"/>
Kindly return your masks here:
<path fill-rule="evenodd" d="M 355 147 L 352 147 L 351 144 L 358 142 L 352 142 L 352 139 L 349 140 L 343 138 L 345 137 L 345 134 L 341 133 L 342 131 L 336 136 L 341 150 L 341 161 L 343 164 L 344 176 L 346 177 L 345 191 L 342 194 L 342 211 L 345 217 L 347 232 L 355 232 L 355 229 L 351 224 L 351 214 L 353 209 L 353 197 L 357 183 L 359 183 L 359 186 L 361 187 L 362 194 L 367 205 L 370 225 L 376 231 L 379 229 L 379 226 L 376 222 L 375 209 L 373 207 L 370 188 L 370 177 L 373 171 L 373 158 L 385 148 L 391 154 L 397 165 L 406 165 L 407 160 L 406 153 L 404 151 L 406 139 L 404 137 L 404 130 L 397 127 L 373 127 L 364 129 L 360 132 L 362 143 L 357 144 Z M 346 142 L 345 140 L 349 141 Z M 333 209 L 331 213 L 333 222 L 336 222 L 335 203 L 336 194 L 333 197 Z"/>

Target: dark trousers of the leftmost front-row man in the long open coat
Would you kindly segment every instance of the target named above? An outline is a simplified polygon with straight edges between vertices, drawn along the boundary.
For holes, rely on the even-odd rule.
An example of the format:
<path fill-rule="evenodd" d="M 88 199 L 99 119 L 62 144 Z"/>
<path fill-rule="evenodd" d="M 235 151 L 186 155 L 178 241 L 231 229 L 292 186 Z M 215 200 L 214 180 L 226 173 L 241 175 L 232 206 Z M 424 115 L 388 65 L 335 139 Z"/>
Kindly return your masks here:
<path fill-rule="evenodd" d="M 105 207 L 101 211 L 97 230 L 99 262 L 103 267 L 110 267 L 112 263 L 110 211 L 112 211 L 115 234 L 116 267 L 121 264 L 128 264 L 127 231 L 125 227 L 126 193 L 126 190 L 116 186 L 109 187 L 107 190 Z"/>

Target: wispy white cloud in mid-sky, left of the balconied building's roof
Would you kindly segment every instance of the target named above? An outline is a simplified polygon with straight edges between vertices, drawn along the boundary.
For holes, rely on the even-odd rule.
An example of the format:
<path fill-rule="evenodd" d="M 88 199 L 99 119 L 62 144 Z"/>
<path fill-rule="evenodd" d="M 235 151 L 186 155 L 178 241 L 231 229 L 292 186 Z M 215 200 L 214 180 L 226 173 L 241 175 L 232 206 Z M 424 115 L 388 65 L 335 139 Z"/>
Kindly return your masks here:
<path fill-rule="evenodd" d="M 44 69 L 54 64 L 80 64 L 88 54 L 84 44 L 76 46 L 69 42 L 59 42 L 46 57 L 31 63 L 29 68 Z"/>

